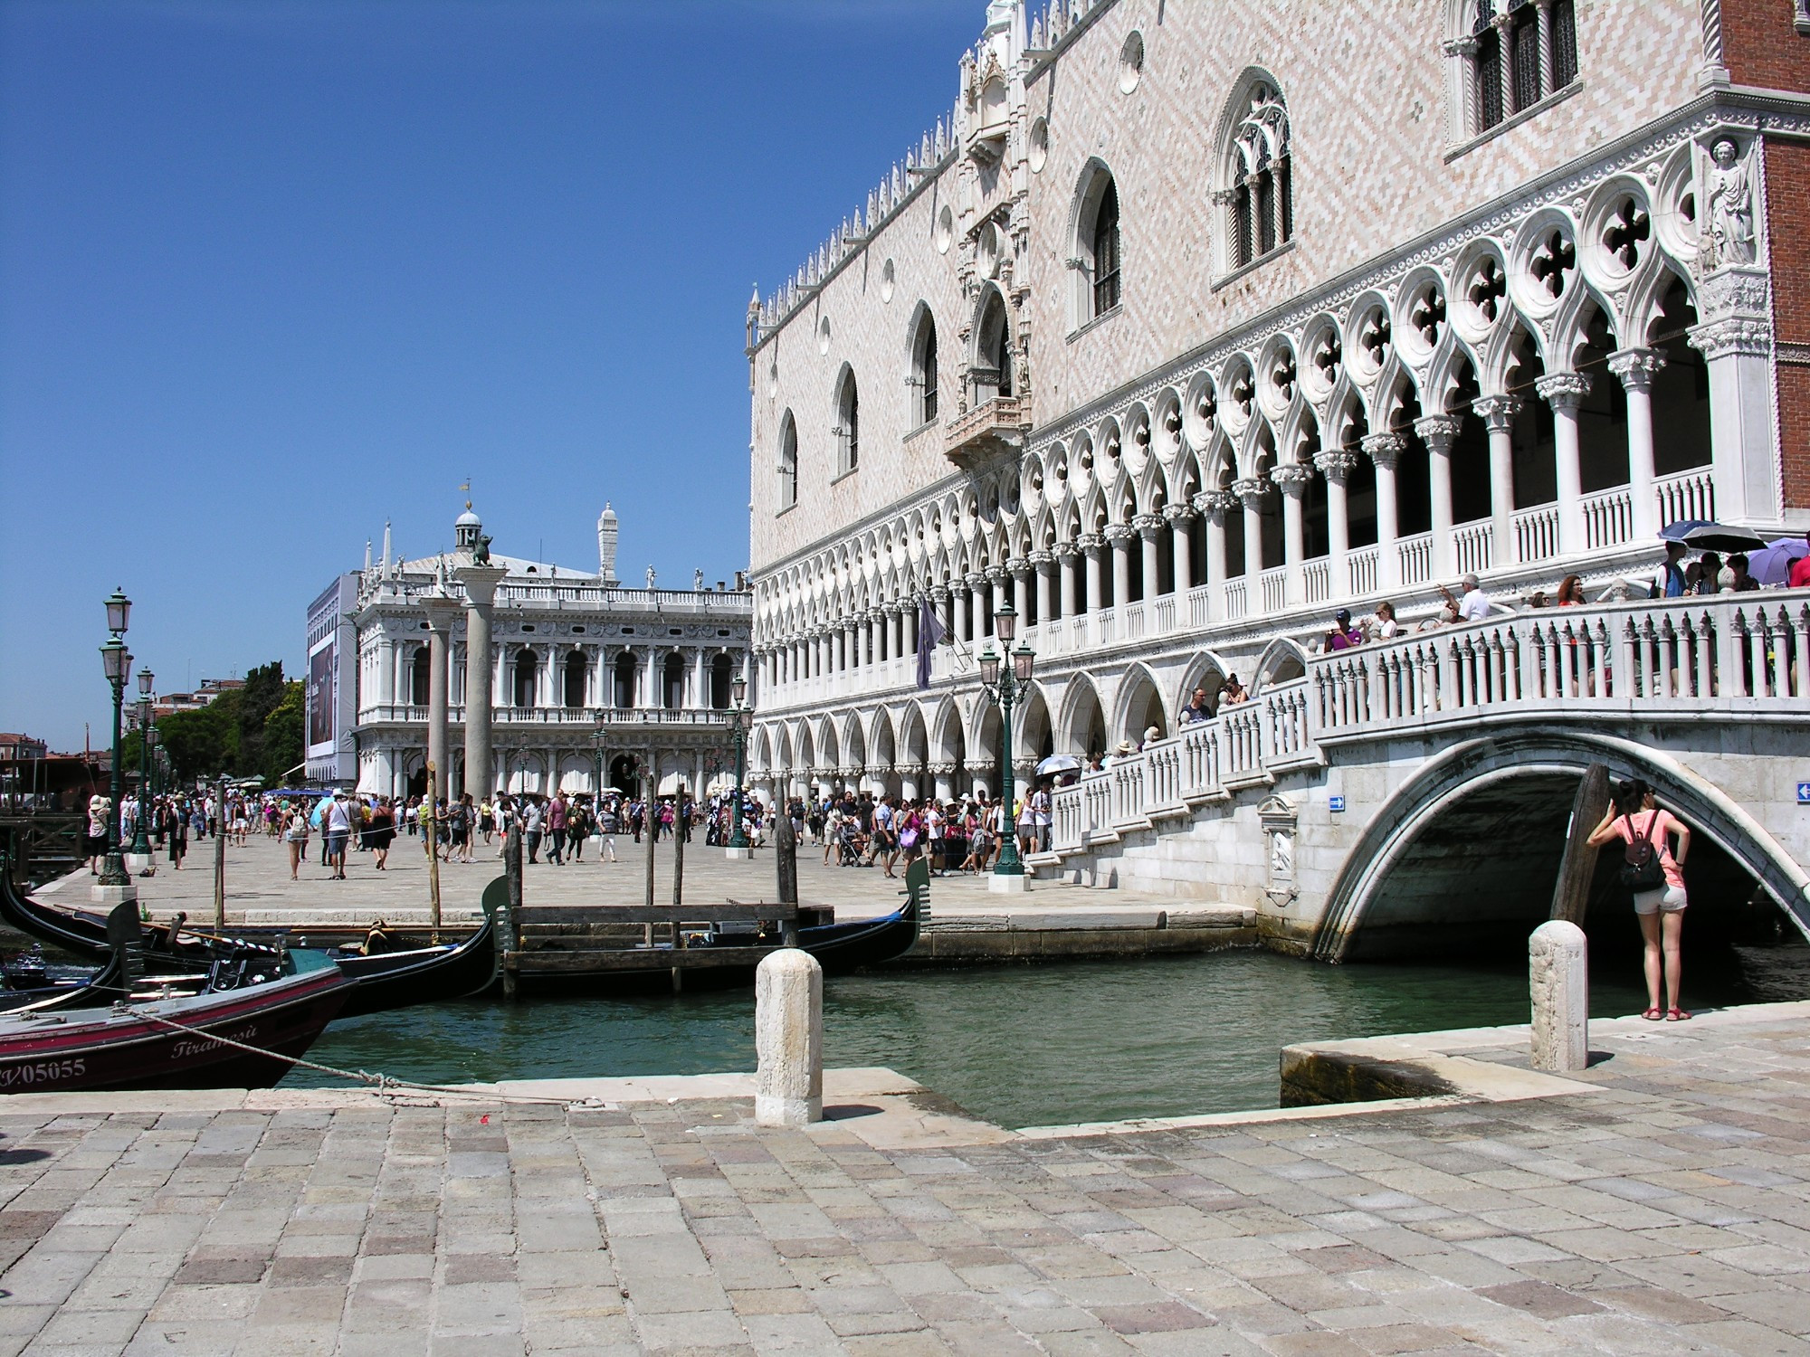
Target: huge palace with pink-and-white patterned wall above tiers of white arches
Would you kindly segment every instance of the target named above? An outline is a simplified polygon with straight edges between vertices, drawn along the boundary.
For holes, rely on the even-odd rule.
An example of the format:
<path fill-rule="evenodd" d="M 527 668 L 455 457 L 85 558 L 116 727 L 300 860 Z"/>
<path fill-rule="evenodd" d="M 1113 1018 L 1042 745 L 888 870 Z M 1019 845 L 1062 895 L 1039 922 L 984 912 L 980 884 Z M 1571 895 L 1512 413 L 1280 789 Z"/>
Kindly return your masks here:
<path fill-rule="evenodd" d="M 1028 771 L 1298 678 L 1339 608 L 1643 593 L 1671 521 L 1801 532 L 1806 34 L 994 0 L 950 116 L 749 306 L 753 782 L 996 785 L 1006 604 Z M 925 597 L 959 644 L 919 689 Z"/>

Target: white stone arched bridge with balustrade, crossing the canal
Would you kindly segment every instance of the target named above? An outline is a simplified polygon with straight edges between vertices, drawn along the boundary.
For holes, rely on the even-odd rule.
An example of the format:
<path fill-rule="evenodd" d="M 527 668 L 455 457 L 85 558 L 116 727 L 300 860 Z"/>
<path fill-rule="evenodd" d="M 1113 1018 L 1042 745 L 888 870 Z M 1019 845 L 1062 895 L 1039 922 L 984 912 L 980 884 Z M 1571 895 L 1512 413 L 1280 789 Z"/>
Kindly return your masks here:
<path fill-rule="evenodd" d="M 1535 610 L 1310 657 L 1059 791 L 1032 865 L 1253 905 L 1272 944 L 1325 959 L 1414 950 L 1437 925 L 1544 917 L 1595 762 L 1691 825 L 1692 905 L 1758 887 L 1810 935 L 1803 590 Z"/>

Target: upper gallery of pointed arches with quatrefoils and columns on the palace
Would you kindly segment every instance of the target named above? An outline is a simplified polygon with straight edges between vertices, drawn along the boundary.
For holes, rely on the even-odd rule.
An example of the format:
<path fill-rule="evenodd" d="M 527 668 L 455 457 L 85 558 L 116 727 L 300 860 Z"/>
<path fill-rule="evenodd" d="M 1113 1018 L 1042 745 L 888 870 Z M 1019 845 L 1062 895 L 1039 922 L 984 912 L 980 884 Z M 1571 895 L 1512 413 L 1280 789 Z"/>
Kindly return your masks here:
<path fill-rule="evenodd" d="M 1028 624 L 1196 584 L 1231 621 L 1712 517 L 1692 150 L 1397 266 L 786 563 L 755 586 L 762 693 L 914 655 L 923 595 L 961 641 L 1014 584 Z"/>

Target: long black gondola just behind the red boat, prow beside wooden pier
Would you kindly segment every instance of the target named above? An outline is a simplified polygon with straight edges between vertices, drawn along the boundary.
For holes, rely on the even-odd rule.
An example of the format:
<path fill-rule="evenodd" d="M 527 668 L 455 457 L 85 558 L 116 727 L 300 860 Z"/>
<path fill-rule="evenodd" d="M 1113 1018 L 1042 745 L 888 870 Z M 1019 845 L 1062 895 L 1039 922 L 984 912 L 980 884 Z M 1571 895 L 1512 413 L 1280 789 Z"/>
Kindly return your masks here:
<path fill-rule="evenodd" d="M 18 888 L 0 858 L 0 923 L 58 946 L 78 957 L 105 961 L 112 948 L 107 941 L 107 921 L 85 910 L 58 910 L 40 905 Z M 346 997 L 340 1017 L 382 1013 L 391 1008 L 465 999 L 483 993 L 496 981 L 496 908 L 507 896 L 501 878 L 485 887 L 485 919 L 460 943 L 436 943 L 424 948 L 360 955 L 335 948 L 328 955 L 358 990 Z M 170 928 L 150 928 L 145 934 L 147 961 L 168 966 L 205 970 L 223 954 L 266 952 L 277 948 L 250 939 L 212 939 L 195 934 L 174 934 Z"/>

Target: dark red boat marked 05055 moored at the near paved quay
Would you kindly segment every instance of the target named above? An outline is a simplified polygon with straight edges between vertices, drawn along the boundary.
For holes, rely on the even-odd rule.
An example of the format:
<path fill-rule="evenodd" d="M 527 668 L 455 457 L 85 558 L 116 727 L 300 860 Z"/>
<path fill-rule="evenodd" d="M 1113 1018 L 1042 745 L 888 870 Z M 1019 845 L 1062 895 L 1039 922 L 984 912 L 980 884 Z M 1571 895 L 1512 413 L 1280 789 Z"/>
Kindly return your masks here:
<path fill-rule="evenodd" d="M 302 968 L 246 988 L 0 1013 L 0 1093 L 270 1087 L 357 990 L 320 954 L 293 955 Z"/>

